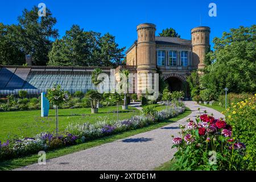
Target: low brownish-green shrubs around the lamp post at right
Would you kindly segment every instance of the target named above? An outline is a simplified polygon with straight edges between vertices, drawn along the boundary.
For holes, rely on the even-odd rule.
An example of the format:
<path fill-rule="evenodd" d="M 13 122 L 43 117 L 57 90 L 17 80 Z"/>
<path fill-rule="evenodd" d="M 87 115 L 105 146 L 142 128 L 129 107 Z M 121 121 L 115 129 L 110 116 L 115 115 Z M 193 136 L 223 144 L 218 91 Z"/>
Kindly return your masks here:
<path fill-rule="evenodd" d="M 241 93 L 241 94 L 236 94 L 236 93 L 228 93 L 227 94 L 227 106 L 231 107 L 232 103 L 237 103 L 237 102 L 241 102 L 241 101 L 245 101 L 246 99 L 253 97 L 253 94 L 249 94 L 249 93 Z M 218 97 L 218 101 L 220 102 L 220 105 L 222 107 L 225 107 L 225 103 L 226 103 L 226 96 L 225 95 L 221 95 L 220 97 Z"/>

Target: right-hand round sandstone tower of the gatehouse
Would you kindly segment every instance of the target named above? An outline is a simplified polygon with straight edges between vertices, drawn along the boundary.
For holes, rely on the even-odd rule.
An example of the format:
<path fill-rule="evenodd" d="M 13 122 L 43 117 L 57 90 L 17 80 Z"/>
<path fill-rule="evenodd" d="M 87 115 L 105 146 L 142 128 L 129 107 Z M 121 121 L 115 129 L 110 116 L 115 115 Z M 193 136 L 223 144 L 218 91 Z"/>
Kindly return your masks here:
<path fill-rule="evenodd" d="M 205 67 L 205 53 L 210 48 L 210 28 L 196 27 L 191 30 L 193 64 L 197 65 L 198 69 Z"/>

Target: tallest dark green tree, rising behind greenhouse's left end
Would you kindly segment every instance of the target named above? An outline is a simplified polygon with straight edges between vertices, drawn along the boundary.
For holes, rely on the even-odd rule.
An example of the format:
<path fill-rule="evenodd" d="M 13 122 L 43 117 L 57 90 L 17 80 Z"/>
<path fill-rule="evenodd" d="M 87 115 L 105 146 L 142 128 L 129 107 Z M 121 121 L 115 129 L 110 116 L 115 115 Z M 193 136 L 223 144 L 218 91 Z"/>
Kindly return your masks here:
<path fill-rule="evenodd" d="M 13 26 L 15 44 L 24 53 L 31 55 L 34 65 L 46 65 L 52 40 L 56 39 L 58 30 L 53 28 L 57 22 L 51 11 L 46 9 L 46 16 L 38 16 L 38 7 L 24 9 L 18 17 L 18 25 Z"/>

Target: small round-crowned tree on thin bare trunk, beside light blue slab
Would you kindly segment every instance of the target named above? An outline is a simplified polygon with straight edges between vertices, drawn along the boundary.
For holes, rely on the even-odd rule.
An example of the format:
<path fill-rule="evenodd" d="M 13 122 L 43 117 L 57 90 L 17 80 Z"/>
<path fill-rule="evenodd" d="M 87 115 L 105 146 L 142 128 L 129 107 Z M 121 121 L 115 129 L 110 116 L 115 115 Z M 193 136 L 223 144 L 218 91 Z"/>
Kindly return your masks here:
<path fill-rule="evenodd" d="M 49 103 L 55 105 L 55 116 L 56 116 L 56 136 L 58 136 L 59 123 L 58 123 L 58 107 L 67 101 L 69 98 L 68 91 L 61 89 L 60 85 L 53 85 L 52 88 L 47 89 L 46 98 Z"/>

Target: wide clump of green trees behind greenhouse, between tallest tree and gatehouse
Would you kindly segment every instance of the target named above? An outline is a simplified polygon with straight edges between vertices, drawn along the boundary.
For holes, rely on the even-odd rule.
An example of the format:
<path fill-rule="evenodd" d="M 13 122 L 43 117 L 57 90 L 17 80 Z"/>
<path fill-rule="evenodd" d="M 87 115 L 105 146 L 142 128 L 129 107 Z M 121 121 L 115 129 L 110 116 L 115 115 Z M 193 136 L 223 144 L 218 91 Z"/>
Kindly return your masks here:
<path fill-rule="evenodd" d="M 113 66 L 121 63 L 123 50 L 118 48 L 115 37 L 109 33 L 84 31 L 73 25 L 61 39 L 53 43 L 48 65 Z"/>

